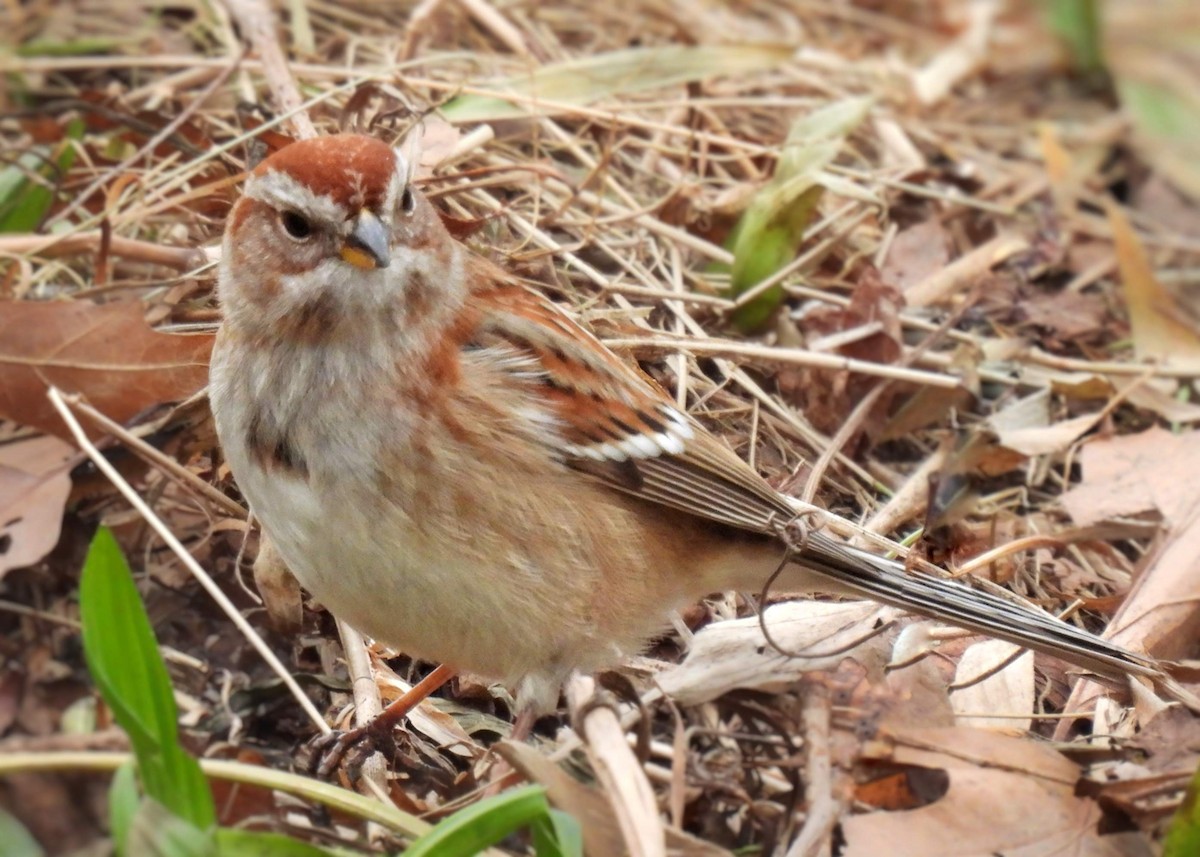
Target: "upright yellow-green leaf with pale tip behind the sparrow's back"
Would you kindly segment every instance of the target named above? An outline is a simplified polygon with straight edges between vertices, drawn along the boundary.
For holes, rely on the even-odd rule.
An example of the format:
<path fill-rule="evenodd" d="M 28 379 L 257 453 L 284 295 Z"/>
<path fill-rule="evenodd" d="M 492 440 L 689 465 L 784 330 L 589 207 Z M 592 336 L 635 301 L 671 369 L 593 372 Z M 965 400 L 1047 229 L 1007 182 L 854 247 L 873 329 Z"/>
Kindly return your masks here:
<path fill-rule="evenodd" d="M 792 125 L 774 176 L 750 200 L 726 241 L 733 253 L 730 296 L 749 292 L 796 258 L 804 230 L 830 184 L 823 170 L 866 118 L 871 103 L 865 97 L 845 98 Z M 782 301 L 782 286 L 773 286 L 738 306 L 733 323 L 743 332 L 755 332 Z"/>

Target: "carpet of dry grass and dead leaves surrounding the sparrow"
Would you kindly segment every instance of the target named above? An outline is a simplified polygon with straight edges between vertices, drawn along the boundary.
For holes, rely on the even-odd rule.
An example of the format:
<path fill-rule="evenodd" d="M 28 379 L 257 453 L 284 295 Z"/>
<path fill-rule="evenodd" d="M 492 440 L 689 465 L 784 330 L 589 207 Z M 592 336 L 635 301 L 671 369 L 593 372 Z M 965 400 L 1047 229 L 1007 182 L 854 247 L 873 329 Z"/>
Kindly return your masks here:
<path fill-rule="evenodd" d="M 322 131 L 424 134 L 420 180 L 457 234 L 551 284 L 768 479 L 847 519 L 842 534 L 865 538 L 854 525 L 886 508 L 878 520 L 911 523 L 877 537 L 912 562 L 967 567 L 1133 648 L 1195 657 L 1200 200 L 1195 158 L 1146 125 L 1145 85 L 1195 91 L 1178 85 L 1194 77 L 1186 54 L 1156 71 L 1145 48 L 1153 22 L 1189 19 L 1147 17 L 1115 48 L 1116 89 L 1136 90 L 1130 127 L 1066 71 L 1038 14 L 992 2 L 304 0 L 277 29 L 246 28 L 263 14 L 248 0 L 152 18 L 88 8 L 8 10 L 18 49 L 0 58 L 0 211 L 23 229 L 0 235 L 0 645 L 38 677 L 24 691 L 36 702 L 12 703 L 26 715 L 0 719 L 7 748 L 30 733 L 46 753 L 76 747 L 59 720 L 86 696 L 72 599 L 97 522 L 144 575 L 193 747 L 287 768 L 312 731 L 179 561 L 54 439 L 48 384 L 125 425 L 114 439 L 85 420 L 330 720 L 349 720 L 331 621 L 256 565 L 236 503 L 202 490 L 236 498 L 211 428 L 170 410 L 204 384 L 224 214 L 244 170 L 302 132 L 277 114 L 304 100 L 298 115 Z M 230 16 L 258 34 L 245 55 Z M 770 270 L 731 282 L 738 223 L 800 154 L 790 136 L 838 104 L 862 115 L 760 211 L 784 227 Z M 767 304 L 731 298 L 763 282 Z M 260 599 L 301 631 L 271 630 Z M 768 640 L 755 600 L 714 595 L 629 667 L 640 706 L 618 707 L 648 739 L 629 773 L 652 784 L 667 835 L 690 838 L 674 847 L 1142 853 L 1181 799 L 1195 761 L 1163 748 L 1192 735 L 1187 713 L 1072 694 L 1054 659 L 874 605 L 770 594 Z M 426 669 L 372 658 L 384 699 Z M 469 799 L 509 714 L 504 689 L 460 679 L 407 726 L 392 799 L 434 815 Z M 505 754 L 595 820 L 589 853 L 616 853 L 613 796 L 580 742 L 558 718 Z M 50 852 L 101 835 L 80 809 L 67 843 L 38 809 L 38 789 L 66 793 L 61 778 L 17 781 L 0 778 L 0 803 Z M 294 803 L 239 793 L 224 823 L 295 820 Z M 364 834 L 305 823 L 322 841 Z"/>

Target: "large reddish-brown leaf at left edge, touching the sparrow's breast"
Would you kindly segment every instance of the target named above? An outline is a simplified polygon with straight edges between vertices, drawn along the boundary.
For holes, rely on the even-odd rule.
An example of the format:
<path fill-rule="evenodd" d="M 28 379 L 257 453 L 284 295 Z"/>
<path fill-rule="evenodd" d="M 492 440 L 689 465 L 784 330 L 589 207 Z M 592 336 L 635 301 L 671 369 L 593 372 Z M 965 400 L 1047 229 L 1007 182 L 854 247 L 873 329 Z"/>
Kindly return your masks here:
<path fill-rule="evenodd" d="M 0 418 L 68 437 L 50 385 L 124 422 L 208 382 L 214 336 L 151 329 L 138 302 L 0 302 Z"/>

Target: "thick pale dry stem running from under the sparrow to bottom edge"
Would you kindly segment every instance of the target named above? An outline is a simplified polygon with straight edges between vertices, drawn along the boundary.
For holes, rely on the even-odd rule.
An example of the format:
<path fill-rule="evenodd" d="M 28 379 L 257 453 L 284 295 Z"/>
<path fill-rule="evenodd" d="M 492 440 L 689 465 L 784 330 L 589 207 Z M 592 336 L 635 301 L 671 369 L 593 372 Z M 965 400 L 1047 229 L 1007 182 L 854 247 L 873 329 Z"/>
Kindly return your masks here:
<path fill-rule="evenodd" d="M 659 817 L 654 790 L 625 741 L 617 713 L 607 706 L 590 706 L 596 684 L 576 675 L 566 685 L 566 699 L 580 720 L 587 754 L 605 795 L 612 803 L 625 844 L 632 857 L 666 857 L 666 833 Z"/>

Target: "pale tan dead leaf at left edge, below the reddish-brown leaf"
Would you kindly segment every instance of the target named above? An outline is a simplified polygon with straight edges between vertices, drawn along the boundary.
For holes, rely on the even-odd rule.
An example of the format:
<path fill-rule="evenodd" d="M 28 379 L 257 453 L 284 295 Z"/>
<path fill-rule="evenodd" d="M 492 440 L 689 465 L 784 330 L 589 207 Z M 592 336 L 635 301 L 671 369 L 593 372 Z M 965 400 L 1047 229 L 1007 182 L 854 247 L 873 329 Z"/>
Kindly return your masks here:
<path fill-rule="evenodd" d="M 73 453 L 53 437 L 0 447 L 0 575 L 32 565 L 58 544 Z"/>

